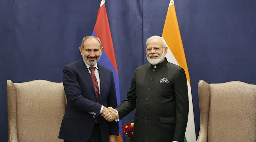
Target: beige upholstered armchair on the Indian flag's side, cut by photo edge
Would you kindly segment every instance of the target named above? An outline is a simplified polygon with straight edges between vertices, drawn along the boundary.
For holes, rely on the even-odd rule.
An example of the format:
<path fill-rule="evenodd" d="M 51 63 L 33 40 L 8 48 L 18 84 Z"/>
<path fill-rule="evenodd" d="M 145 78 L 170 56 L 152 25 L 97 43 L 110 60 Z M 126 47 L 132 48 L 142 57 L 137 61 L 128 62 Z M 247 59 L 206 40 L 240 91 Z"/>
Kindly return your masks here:
<path fill-rule="evenodd" d="M 196 142 L 256 142 L 256 85 L 198 83 L 200 132 Z"/>

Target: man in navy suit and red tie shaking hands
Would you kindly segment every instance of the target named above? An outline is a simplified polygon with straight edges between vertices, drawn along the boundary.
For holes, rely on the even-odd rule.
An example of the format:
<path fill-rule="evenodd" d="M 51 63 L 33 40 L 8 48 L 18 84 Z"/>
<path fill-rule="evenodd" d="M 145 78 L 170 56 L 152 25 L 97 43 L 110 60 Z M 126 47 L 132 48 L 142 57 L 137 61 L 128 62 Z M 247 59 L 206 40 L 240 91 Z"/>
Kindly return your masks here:
<path fill-rule="evenodd" d="M 107 107 L 117 107 L 113 72 L 98 64 L 103 51 L 100 39 L 86 36 L 79 49 L 83 57 L 63 69 L 67 105 L 59 138 L 64 142 L 117 142 L 118 122 L 100 116 L 106 113 L 114 118 Z"/>

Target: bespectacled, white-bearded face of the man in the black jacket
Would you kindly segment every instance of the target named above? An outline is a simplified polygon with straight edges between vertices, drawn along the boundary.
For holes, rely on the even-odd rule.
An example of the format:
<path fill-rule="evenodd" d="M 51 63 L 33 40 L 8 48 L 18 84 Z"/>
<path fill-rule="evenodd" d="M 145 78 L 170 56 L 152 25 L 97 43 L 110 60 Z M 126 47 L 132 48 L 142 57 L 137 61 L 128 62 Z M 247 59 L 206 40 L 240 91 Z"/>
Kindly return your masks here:
<path fill-rule="evenodd" d="M 148 62 L 156 65 L 164 61 L 167 47 L 163 47 L 163 41 L 160 38 L 156 38 L 148 41 L 146 51 Z"/>

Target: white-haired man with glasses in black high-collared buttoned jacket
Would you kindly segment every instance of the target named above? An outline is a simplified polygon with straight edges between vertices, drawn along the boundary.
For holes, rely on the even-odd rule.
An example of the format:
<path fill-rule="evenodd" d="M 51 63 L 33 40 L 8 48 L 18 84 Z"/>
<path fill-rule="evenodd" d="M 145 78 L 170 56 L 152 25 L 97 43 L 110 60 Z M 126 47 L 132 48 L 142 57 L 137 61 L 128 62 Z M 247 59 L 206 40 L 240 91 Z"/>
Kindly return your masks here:
<path fill-rule="evenodd" d="M 137 67 L 126 99 L 116 107 L 116 121 L 134 108 L 134 142 L 183 142 L 188 122 L 188 86 L 185 71 L 165 58 L 162 37 L 147 40 L 149 64 Z"/>

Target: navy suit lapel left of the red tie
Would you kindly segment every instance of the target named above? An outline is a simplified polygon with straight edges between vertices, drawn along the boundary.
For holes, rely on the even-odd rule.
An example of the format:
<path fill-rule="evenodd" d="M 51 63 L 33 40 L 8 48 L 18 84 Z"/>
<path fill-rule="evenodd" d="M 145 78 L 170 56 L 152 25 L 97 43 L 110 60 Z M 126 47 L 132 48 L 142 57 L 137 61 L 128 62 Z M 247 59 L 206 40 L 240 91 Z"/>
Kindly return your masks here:
<path fill-rule="evenodd" d="M 97 99 L 96 97 L 96 92 L 95 92 L 95 88 L 94 88 L 94 85 L 93 85 L 93 82 L 92 82 L 92 77 L 91 77 L 91 74 L 89 73 L 86 65 L 84 64 L 84 60 L 83 58 L 79 60 L 79 64 L 78 64 L 82 70 L 82 72 L 85 72 L 84 73 L 84 77 L 85 79 L 87 80 L 87 83 L 90 85 L 90 87 L 92 88 L 92 91 L 94 93 L 94 96 L 95 98 Z"/>

